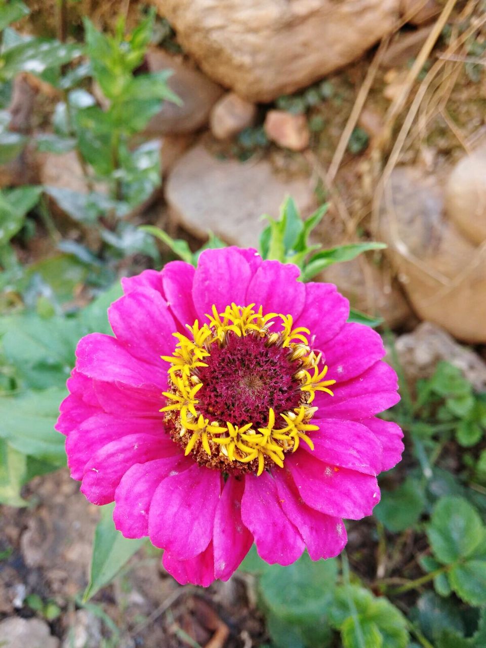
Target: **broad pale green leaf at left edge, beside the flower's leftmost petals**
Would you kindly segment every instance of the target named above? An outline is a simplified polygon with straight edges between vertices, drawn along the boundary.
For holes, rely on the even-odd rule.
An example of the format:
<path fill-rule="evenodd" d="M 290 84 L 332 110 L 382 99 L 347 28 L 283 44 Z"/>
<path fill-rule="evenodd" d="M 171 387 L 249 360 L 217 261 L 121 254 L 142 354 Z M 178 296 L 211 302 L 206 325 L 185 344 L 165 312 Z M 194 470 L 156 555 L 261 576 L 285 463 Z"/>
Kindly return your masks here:
<path fill-rule="evenodd" d="M 0 397 L 0 437 L 22 454 L 64 465 L 64 437 L 54 423 L 65 396 L 65 389 L 51 388 Z"/>

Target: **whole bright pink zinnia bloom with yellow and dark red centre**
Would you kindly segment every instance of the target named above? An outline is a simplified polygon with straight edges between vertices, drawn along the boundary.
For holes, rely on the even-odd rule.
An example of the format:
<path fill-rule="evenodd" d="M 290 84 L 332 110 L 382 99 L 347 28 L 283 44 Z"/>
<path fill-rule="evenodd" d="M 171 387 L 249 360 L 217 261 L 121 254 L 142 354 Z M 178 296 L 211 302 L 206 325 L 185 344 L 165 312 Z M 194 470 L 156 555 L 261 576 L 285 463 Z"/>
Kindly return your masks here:
<path fill-rule="evenodd" d="M 346 543 L 399 460 L 380 336 L 336 286 L 254 250 L 207 250 L 122 279 L 114 337 L 80 340 L 57 429 L 90 502 L 150 537 L 179 583 L 228 579 L 255 542 L 288 565 Z"/>

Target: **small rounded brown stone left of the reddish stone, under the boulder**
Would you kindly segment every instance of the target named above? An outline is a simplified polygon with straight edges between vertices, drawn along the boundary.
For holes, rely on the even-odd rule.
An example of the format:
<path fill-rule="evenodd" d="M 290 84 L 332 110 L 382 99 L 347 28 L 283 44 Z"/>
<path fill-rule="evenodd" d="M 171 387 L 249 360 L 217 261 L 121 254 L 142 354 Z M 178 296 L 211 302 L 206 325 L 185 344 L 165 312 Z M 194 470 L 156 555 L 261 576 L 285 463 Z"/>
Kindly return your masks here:
<path fill-rule="evenodd" d="M 214 104 L 211 111 L 211 132 L 216 139 L 229 139 L 244 128 L 253 126 L 257 117 L 257 106 L 234 92 L 228 92 Z"/>

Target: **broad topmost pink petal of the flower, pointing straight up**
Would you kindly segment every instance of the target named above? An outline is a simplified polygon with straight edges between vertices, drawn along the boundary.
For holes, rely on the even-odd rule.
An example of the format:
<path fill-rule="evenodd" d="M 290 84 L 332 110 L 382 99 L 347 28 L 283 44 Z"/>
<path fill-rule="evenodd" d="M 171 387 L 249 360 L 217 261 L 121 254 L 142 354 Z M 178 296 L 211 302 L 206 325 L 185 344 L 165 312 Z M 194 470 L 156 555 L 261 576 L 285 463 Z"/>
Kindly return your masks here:
<path fill-rule="evenodd" d="M 245 306 L 250 277 L 248 262 L 235 248 L 203 251 L 192 284 L 192 299 L 200 323 L 206 321 L 205 314 L 211 314 L 213 304 L 220 312 L 233 301 Z"/>

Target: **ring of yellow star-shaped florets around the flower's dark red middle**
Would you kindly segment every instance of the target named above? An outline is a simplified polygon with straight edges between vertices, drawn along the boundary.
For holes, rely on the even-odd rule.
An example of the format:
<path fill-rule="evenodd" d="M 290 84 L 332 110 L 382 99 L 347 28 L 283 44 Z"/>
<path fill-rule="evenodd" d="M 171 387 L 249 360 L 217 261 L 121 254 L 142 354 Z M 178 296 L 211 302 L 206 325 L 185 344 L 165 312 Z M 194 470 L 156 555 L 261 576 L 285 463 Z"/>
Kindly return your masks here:
<path fill-rule="evenodd" d="M 260 475 L 273 464 L 283 467 L 285 454 L 295 452 L 301 442 L 314 450 L 312 432 L 319 428 L 311 421 L 318 408 L 311 404 L 317 391 L 332 396 L 329 386 L 336 381 L 325 380 L 328 368 L 319 368 L 322 354 L 310 348 L 308 329 L 294 327 L 291 315 L 264 315 L 262 310 L 261 306 L 255 310 L 255 304 L 241 307 L 231 303 L 218 312 L 213 305 L 211 314 L 206 315 L 208 323 L 200 326 L 196 319 L 192 326 L 187 325 L 187 335 L 174 333 L 174 353 L 161 356 L 170 367 L 169 389 L 163 392 L 167 404 L 160 411 L 172 421 L 175 440 L 185 446 L 185 456 L 192 453 L 199 463 Z M 279 330 L 272 330 L 277 321 Z M 211 421 L 203 416 L 198 409 L 198 392 L 203 388 L 199 369 L 208 366 L 205 360 L 211 356 L 211 347 L 225 345 L 231 335 L 255 336 L 262 338 L 266 347 L 288 349 L 288 359 L 295 363 L 293 378 L 300 384 L 296 388 L 299 407 L 278 414 L 270 408 L 268 423 L 257 429 L 251 421 Z"/>

